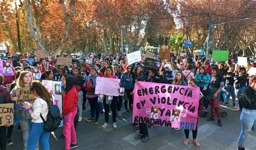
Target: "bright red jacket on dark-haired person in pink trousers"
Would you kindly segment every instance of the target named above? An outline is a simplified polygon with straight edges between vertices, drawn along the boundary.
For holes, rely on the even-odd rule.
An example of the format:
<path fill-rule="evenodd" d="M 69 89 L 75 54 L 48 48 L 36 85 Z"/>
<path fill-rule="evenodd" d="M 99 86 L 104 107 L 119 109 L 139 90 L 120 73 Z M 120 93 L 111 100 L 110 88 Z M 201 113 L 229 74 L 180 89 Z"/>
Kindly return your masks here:
<path fill-rule="evenodd" d="M 78 102 L 78 91 L 76 85 L 74 85 L 71 90 L 64 94 L 63 104 L 62 104 L 62 115 L 67 115 L 77 109 Z"/>

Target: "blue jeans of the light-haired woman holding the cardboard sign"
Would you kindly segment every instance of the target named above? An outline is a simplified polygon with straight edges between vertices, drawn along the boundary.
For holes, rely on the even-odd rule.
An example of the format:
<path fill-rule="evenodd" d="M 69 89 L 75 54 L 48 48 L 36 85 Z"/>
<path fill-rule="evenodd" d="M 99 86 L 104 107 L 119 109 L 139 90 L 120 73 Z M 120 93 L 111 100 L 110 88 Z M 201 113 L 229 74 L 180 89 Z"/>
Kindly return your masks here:
<path fill-rule="evenodd" d="M 24 149 L 28 147 L 30 124 L 31 124 L 31 119 L 19 120 L 19 125 L 21 125 L 21 129 L 22 129 L 22 139 L 23 139 Z"/>

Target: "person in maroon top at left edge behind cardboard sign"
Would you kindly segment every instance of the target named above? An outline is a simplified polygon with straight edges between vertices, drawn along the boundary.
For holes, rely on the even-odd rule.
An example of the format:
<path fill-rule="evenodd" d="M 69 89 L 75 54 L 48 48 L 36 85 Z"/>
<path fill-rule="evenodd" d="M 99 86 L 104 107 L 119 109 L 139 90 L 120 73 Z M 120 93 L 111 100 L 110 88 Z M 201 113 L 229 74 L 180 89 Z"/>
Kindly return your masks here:
<path fill-rule="evenodd" d="M 4 76 L 0 74 L 0 104 L 11 103 L 10 92 L 3 83 L 4 83 Z M 0 149 L 1 150 L 6 150 L 6 127 L 9 127 L 9 126 L 10 125 L 7 123 L 4 126 L 0 126 Z"/>

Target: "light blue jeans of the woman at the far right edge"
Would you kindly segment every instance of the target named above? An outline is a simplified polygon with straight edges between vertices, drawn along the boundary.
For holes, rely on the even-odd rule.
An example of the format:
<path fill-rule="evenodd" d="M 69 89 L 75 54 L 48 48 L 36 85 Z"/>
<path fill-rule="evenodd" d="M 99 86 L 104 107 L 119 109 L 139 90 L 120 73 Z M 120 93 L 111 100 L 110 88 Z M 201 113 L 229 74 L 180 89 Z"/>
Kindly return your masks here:
<path fill-rule="evenodd" d="M 238 139 L 238 146 L 245 146 L 245 139 L 251 133 L 252 127 L 256 131 L 256 110 L 242 108 L 240 115 L 242 130 Z"/>

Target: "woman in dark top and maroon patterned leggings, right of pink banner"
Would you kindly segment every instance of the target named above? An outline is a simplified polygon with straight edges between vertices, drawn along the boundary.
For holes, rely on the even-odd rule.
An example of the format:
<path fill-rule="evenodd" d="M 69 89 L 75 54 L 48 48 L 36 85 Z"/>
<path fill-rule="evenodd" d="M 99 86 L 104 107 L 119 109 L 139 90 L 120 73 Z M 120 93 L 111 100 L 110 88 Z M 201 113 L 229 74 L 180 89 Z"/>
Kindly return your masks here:
<path fill-rule="evenodd" d="M 220 121 L 220 91 L 224 87 L 224 78 L 220 75 L 219 68 L 217 66 L 212 67 L 212 76 L 210 81 L 210 86 L 208 87 L 207 97 L 210 98 L 211 106 L 211 117 L 207 121 L 214 120 L 214 113 L 217 112 L 218 126 L 222 126 Z"/>

